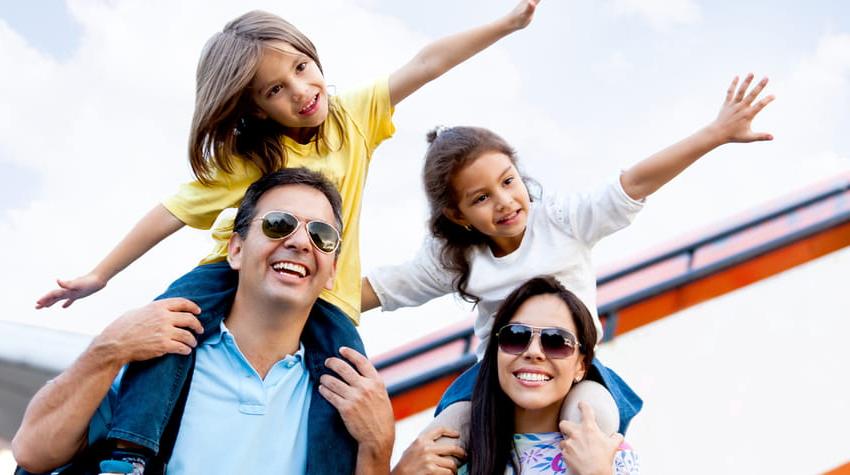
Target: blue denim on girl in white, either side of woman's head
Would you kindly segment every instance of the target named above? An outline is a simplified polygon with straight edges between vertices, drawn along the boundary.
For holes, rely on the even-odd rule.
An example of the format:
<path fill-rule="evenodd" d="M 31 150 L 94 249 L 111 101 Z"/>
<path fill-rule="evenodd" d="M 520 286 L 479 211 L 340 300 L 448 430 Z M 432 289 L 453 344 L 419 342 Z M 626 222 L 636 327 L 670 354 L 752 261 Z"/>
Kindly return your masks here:
<path fill-rule="evenodd" d="M 472 400 L 472 390 L 475 388 L 475 380 L 478 379 L 478 370 L 480 368 L 481 363 L 475 363 L 452 382 L 449 388 L 446 389 L 446 392 L 443 393 L 443 397 L 440 399 L 440 403 L 437 404 L 437 410 L 434 415 L 439 414 L 443 409 L 458 401 Z M 632 421 L 632 418 L 643 407 L 643 400 L 635 394 L 632 388 L 617 373 L 605 367 L 596 358 L 593 358 L 593 364 L 590 366 L 585 379 L 596 381 L 605 386 L 605 389 L 611 393 L 620 412 L 620 428 L 617 432 L 625 435 L 626 429 L 629 428 L 629 422 Z"/>

